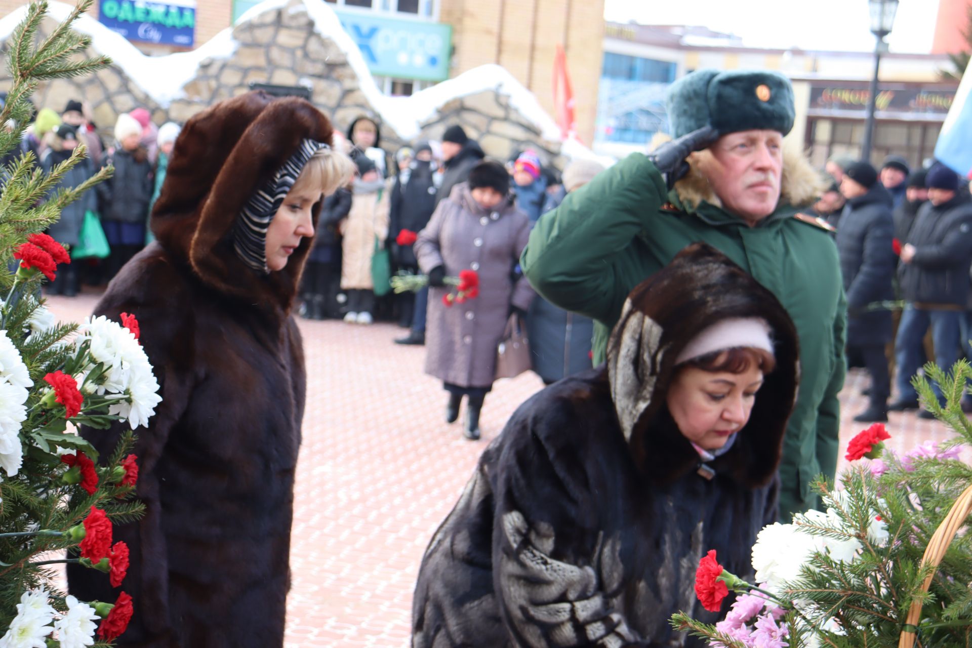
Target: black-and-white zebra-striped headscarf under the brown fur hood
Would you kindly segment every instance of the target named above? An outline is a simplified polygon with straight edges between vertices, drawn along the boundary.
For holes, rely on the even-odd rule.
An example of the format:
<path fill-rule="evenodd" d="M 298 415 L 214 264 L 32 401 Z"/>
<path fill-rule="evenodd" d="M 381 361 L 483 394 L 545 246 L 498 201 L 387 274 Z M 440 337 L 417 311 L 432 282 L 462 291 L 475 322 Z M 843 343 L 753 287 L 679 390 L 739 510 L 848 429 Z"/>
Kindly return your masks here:
<path fill-rule="evenodd" d="M 243 205 L 233 226 L 233 250 L 236 256 L 257 272 L 270 272 L 266 267 L 266 230 L 270 222 L 307 161 L 314 153 L 327 148 L 328 145 L 323 142 L 302 140 L 297 152 Z"/>

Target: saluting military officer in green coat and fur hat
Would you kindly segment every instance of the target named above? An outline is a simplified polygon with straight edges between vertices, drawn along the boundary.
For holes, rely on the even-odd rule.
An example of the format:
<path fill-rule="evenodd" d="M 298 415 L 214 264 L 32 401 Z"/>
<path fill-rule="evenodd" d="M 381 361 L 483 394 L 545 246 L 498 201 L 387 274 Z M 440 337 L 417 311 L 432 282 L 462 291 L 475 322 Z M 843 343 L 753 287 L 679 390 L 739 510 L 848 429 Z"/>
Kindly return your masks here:
<path fill-rule="evenodd" d="M 783 151 L 794 107 L 780 74 L 699 70 L 672 85 L 667 110 L 676 139 L 629 155 L 542 216 L 523 270 L 547 300 L 597 321 L 597 363 L 628 293 L 691 243 L 709 243 L 771 290 L 800 341 L 780 465 L 788 521 L 816 507 L 813 480 L 833 476 L 838 455 L 847 307 L 833 239 L 807 215 L 820 180 Z"/>

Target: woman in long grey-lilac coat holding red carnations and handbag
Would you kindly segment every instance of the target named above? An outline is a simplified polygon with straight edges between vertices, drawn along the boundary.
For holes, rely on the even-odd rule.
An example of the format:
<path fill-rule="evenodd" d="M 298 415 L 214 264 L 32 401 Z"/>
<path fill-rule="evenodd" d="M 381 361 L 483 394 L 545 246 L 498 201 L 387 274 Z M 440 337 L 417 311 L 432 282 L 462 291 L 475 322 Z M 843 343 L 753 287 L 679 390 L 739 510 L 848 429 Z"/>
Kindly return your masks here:
<path fill-rule="evenodd" d="M 509 174 L 485 160 L 469 172 L 435 208 L 415 243 L 422 272 L 429 275 L 426 373 L 449 392 L 446 421 L 459 418 L 468 398 L 465 434 L 479 438 L 479 413 L 493 388 L 497 347 L 513 311 L 525 313 L 534 291 L 515 272 L 527 245 L 530 221 L 513 204 Z M 443 279 L 471 269 L 479 275 L 479 296 L 447 307 Z"/>

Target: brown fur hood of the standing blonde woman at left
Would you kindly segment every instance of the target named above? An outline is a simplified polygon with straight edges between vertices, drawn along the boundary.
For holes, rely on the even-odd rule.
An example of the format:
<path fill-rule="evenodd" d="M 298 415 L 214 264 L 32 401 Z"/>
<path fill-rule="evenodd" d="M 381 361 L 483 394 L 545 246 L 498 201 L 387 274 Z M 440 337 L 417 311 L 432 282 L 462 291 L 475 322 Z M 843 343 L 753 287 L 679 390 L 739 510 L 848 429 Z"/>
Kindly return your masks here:
<path fill-rule="evenodd" d="M 152 231 L 172 256 L 215 290 L 290 310 L 313 239 L 287 267 L 260 275 L 233 252 L 230 233 L 243 205 L 309 138 L 331 144 L 330 120 L 309 102 L 261 91 L 221 101 L 179 134 L 152 212 Z M 315 207 L 314 222 L 320 204 Z"/>

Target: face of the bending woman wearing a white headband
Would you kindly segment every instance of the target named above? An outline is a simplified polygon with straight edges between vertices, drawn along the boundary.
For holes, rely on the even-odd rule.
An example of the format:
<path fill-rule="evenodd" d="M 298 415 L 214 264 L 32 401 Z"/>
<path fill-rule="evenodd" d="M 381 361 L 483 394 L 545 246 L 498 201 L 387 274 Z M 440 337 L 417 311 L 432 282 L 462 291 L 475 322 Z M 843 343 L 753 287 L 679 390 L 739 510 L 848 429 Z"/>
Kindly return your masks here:
<path fill-rule="evenodd" d="M 677 371 L 666 401 L 682 435 L 704 450 L 718 450 L 749 420 L 763 371 L 755 363 L 743 373 L 694 366 Z"/>

